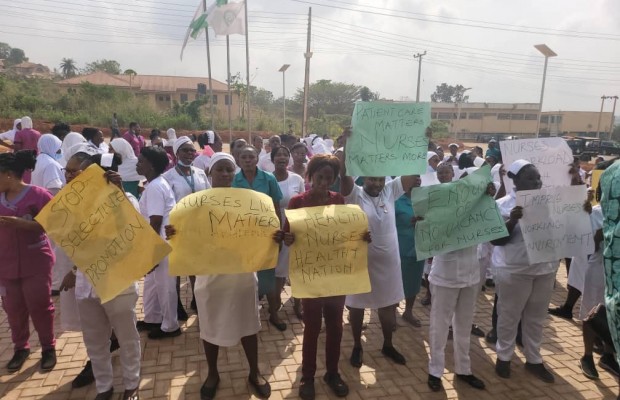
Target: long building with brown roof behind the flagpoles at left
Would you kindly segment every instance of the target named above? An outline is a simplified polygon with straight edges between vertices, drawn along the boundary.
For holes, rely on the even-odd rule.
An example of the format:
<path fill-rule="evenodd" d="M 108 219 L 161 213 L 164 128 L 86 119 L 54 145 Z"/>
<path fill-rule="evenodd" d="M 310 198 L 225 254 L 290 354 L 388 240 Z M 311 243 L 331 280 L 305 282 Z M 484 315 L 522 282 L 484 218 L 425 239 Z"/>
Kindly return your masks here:
<path fill-rule="evenodd" d="M 167 75 L 113 75 L 103 71 L 65 79 L 58 82 L 58 85 L 69 90 L 79 87 L 84 82 L 129 90 L 136 96 L 146 97 L 151 105 L 161 111 L 170 110 L 175 101 L 183 104 L 198 99 L 199 84 L 205 85 L 206 94 L 208 94 L 209 87 L 208 78 Z M 222 119 L 227 118 L 227 106 L 230 101 L 232 117 L 237 118 L 240 114 L 239 96 L 232 92 L 229 99 L 225 83 L 215 79 L 212 79 L 211 82 L 216 115 Z"/>

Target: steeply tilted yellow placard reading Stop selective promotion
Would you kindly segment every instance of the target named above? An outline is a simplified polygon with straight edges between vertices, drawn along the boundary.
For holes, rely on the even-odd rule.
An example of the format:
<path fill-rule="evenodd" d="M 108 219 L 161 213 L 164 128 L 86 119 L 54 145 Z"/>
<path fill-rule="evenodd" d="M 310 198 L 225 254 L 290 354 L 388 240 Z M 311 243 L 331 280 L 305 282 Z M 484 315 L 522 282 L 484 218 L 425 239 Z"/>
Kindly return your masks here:
<path fill-rule="evenodd" d="M 171 249 L 103 174 L 91 165 L 35 219 L 105 303 L 146 275 Z"/>

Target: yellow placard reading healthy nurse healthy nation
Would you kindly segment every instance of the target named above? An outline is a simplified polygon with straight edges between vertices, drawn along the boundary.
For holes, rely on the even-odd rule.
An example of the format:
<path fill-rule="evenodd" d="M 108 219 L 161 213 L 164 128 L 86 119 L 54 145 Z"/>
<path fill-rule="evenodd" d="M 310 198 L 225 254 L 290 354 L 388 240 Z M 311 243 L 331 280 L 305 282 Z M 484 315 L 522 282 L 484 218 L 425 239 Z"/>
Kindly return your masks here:
<path fill-rule="evenodd" d="M 295 242 L 289 277 L 296 298 L 370 292 L 366 213 L 357 205 L 286 210 Z"/>

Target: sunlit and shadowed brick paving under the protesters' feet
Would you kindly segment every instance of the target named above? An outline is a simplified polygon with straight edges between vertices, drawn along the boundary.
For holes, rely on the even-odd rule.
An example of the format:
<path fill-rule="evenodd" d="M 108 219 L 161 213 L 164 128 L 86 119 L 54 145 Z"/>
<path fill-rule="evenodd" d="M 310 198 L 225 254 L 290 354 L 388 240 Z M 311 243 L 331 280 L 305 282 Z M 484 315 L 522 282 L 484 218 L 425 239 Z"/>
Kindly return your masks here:
<path fill-rule="evenodd" d="M 562 267 L 553 303 L 560 304 L 565 295 L 566 277 Z M 185 285 L 184 290 L 187 290 Z M 424 290 L 424 289 L 423 289 Z M 187 293 L 186 297 L 187 297 Z M 493 292 L 480 295 L 475 322 L 487 330 L 491 321 Z M 288 297 L 286 295 L 285 297 Z M 187 298 L 186 298 L 187 300 Z M 140 312 L 142 305 L 139 305 Z M 549 318 L 545 328 L 543 353 L 545 362 L 557 376 L 555 384 L 545 384 L 532 379 L 523 370 L 524 359 L 517 351 L 513 362 L 513 377 L 502 380 L 494 373 L 495 351 L 483 339 L 472 337 L 472 365 L 474 372 L 487 383 L 486 391 L 476 391 L 454 381 L 452 374 L 451 346 L 447 351 L 447 369 L 444 375 L 445 392 L 431 393 L 426 386 L 428 363 L 428 316 L 429 309 L 420 305 L 414 308 L 421 317 L 422 328 L 407 326 L 399 318 L 395 345 L 407 357 L 407 366 L 397 366 L 380 353 L 381 331 L 375 313 L 368 314 L 368 329 L 364 333 L 365 365 L 357 370 L 348 363 L 352 348 L 349 326 L 345 326 L 340 362 L 344 379 L 351 387 L 349 399 L 615 399 L 618 383 L 607 372 L 600 370 L 601 379 L 585 378 L 577 364 L 583 351 L 579 322 Z M 281 315 L 289 323 L 283 333 L 266 323 L 260 332 L 260 367 L 268 377 L 273 389 L 272 399 L 297 398 L 300 379 L 302 324 L 295 317 L 292 305 L 287 301 Z M 346 319 L 345 319 L 346 320 Z M 143 362 L 140 396 L 143 399 L 198 399 L 199 390 L 207 375 L 207 365 L 198 334 L 195 315 L 183 324 L 184 334 L 164 341 L 149 341 L 143 334 Z M 60 329 L 60 327 L 58 327 Z M 47 374 L 38 370 L 40 348 L 36 335 L 33 338 L 34 354 L 19 373 L 9 374 L 4 365 L 12 355 L 10 332 L 6 315 L 0 311 L 0 397 L 4 399 L 92 399 L 94 385 L 72 390 L 70 382 L 81 370 L 86 360 L 86 349 L 81 334 L 60 332 L 58 335 L 58 365 Z M 320 349 L 324 345 L 321 335 Z M 598 356 L 595 355 L 595 360 Z M 118 355 L 114 357 L 116 389 L 122 392 Z M 324 356 L 319 351 L 319 370 L 324 373 Z M 248 399 L 247 363 L 240 346 L 220 352 L 221 384 L 218 399 Z M 317 399 L 334 398 L 328 388 L 318 379 Z M 120 396 L 117 395 L 117 396 Z"/>

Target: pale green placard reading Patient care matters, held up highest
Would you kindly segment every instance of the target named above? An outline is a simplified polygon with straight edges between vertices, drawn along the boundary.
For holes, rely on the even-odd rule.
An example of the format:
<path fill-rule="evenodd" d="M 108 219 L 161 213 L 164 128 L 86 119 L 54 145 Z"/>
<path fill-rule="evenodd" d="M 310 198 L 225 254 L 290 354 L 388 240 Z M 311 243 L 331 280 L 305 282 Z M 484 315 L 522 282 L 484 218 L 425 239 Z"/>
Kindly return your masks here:
<path fill-rule="evenodd" d="M 423 174 L 430 115 L 430 103 L 355 103 L 353 132 L 347 139 L 347 175 Z"/>

